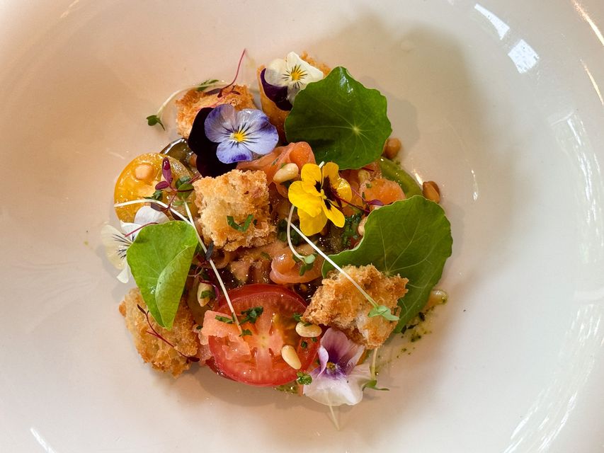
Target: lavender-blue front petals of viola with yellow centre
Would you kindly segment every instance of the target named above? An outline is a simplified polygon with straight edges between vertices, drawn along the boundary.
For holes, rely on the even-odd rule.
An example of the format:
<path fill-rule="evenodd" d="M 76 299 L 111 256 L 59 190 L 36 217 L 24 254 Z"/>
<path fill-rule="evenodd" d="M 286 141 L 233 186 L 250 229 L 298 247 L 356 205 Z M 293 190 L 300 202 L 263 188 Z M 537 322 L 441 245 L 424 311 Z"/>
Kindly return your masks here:
<path fill-rule="evenodd" d="M 230 104 L 218 105 L 207 115 L 205 135 L 218 144 L 216 156 L 224 164 L 268 154 L 279 140 L 277 129 L 261 110 L 235 110 Z"/>

